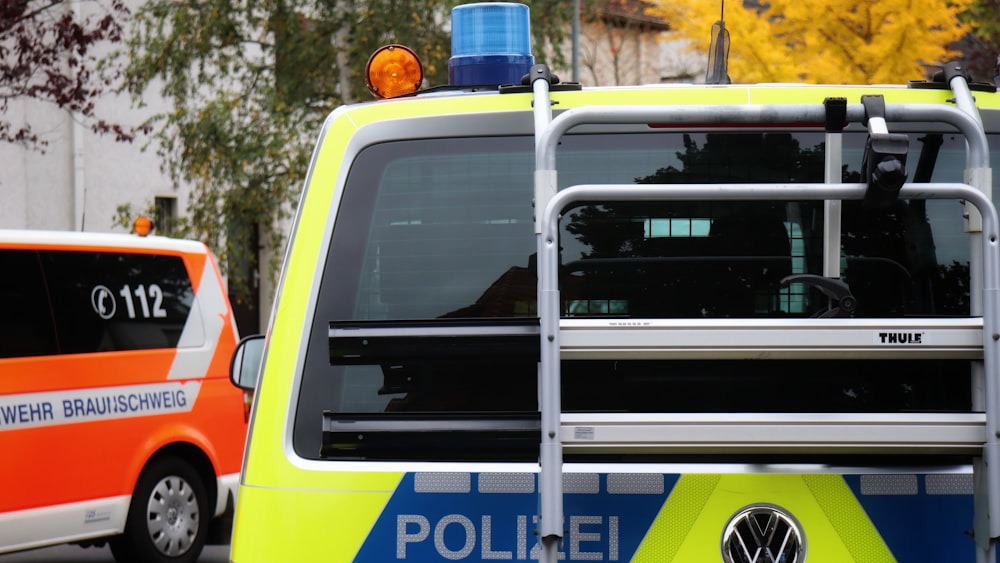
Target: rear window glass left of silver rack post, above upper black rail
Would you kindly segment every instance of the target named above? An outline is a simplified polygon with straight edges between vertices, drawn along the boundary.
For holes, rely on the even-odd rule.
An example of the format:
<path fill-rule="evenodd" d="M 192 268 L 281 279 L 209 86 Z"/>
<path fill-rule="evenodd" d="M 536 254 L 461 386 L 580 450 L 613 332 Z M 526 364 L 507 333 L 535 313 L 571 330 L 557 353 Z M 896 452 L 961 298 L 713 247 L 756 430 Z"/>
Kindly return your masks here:
<path fill-rule="evenodd" d="M 352 273 L 334 282 L 350 307 L 341 318 L 534 315 L 530 148 L 449 139 L 366 150 L 384 167 L 352 168 L 351 184 L 377 189 L 349 195 L 338 217 L 334 260 Z"/>

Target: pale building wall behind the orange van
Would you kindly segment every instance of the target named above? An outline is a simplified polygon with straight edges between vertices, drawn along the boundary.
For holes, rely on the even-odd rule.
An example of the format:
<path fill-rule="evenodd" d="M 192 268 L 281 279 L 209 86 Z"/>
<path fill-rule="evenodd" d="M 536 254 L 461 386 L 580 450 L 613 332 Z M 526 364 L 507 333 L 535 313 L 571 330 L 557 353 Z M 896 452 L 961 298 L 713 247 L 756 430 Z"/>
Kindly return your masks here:
<path fill-rule="evenodd" d="M 127 0 L 133 11 L 141 0 Z M 74 5 L 86 17 L 100 4 Z M 127 23 L 127 22 L 126 22 Z M 102 43 L 94 56 L 104 57 L 119 45 Z M 143 110 L 132 107 L 128 96 L 105 94 L 95 100 L 95 116 L 126 130 L 168 107 L 151 88 Z M 74 120 L 55 104 L 33 99 L 10 100 L 3 119 L 15 128 L 28 124 L 45 143 L 39 149 L 0 143 L 0 228 L 123 231 L 114 217 L 119 205 L 141 212 L 156 196 L 177 198 L 177 211 L 186 211 L 189 188 L 175 186 L 160 171 L 155 149 L 143 151 L 149 137 L 118 142 L 113 134 L 100 135 Z"/>

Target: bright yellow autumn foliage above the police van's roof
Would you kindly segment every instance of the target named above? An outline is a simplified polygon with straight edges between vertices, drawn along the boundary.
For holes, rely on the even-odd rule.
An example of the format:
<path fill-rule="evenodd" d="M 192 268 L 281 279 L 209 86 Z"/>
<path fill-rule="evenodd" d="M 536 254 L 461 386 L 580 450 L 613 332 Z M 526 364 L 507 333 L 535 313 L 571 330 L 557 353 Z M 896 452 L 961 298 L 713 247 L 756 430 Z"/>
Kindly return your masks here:
<path fill-rule="evenodd" d="M 958 15 L 973 0 L 769 0 L 725 3 L 734 83 L 899 84 L 957 58 L 949 44 L 971 31 Z M 722 3 L 654 0 L 668 40 L 707 52 Z"/>

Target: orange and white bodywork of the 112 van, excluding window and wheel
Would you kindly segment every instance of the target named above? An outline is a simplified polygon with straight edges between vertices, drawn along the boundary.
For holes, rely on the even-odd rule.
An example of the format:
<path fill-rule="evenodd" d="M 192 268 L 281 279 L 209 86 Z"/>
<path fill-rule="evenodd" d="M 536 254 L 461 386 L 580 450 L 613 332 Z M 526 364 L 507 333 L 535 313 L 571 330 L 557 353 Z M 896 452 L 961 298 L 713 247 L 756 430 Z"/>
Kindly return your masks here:
<path fill-rule="evenodd" d="M 184 246 L 190 242 L 52 242 L 74 234 L 81 233 L 49 233 L 41 242 L 0 237 L 0 250 L 179 257 L 198 303 L 189 315 L 202 322 L 190 317 L 197 336 L 174 348 L 0 357 L 0 482 L 9 485 L 0 515 L 130 496 L 149 460 L 174 444 L 200 450 L 214 479 L 235 481 L 247 422 L 243 393 L 229 380 L 239 335 L 215 260 L 203 245 Z"/>

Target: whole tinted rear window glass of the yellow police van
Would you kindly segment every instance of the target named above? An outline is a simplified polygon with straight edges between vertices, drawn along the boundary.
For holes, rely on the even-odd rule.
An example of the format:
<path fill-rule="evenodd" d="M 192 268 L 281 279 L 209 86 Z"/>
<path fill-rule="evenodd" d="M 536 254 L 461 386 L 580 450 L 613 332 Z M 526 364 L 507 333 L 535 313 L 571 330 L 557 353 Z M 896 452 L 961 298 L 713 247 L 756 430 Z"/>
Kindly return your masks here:
<path fill-rule="evenodd" d="M 941 137 L 930 175 L 925 171 L 912 181 L 962 181 L 964 139 Z M 909 161 L 915 163 L 926 143 L 918 135 L 911 139 Z M 845 133 L 843 140 L 842 181 L 859 182 L 866 135 Z M 560 188 L 819 183 L 824 142 L 822 132 L 574 134 L 557 151 L 558 181 Z M 340 321 L 434 320 L 443 325 L 442 319 L 471 318 L 499 324 L 502 318 L 535 317 L 533 146 L 530 137 L 422 139 L 371 146 L 357 156 L 309 334 L 293 437 L 300 455 L 333 455 L 341 436 L 331 431 L 324 441 L 323 421 L 331 427 L 348 424 L 352 414 L 367 424 L 381 413 L 402 428 L 417 420 L 406 416 L 461 419 L 469 413 L 537 412 L 534 361 L 442 357 L 338 365 L 331 363 L 330 337 L 331 323 Z M 823 221 L 823 203 L 814 201 L 584 202 L 562 217 L 563 315 L 821 314 L 830 306 L 826 295 L 782 280 L 790 274 L 823 274 Z M 878 212 L 845 202 L 842 221 L 841 272 L 859 301 L 855 316 L 969 314 L 970 245 L 957 202 L 901 201 Z M 922 362 L 874 388 L 853 377 L 882 369 L 868 360 L 828 370 L 812 370 L 812 362 L 755 362 L 752 371 L 736 365 L 570 363 L 563 376 L 575 383 L 564 389 L 592 393 L 567 394 L 564 407 L 597 409 L 591 398 L 601 396 L 615 399 L 611 408 L 621 411 L 730 408 L 690 398 L 713 396 L 732 383 L 734 393 L 727 400 L 738 397 L 762 411 L 796 410 L 802 407 L 786 404 L 787 396 L 770 390 L 789 381 L 799 385 L 802 373 L 809 372 L 815 378 L 795 389 L 806 395 L 815 390 L 810 410 L 967 408 L 962 390 L 951 397 L 939 392 L 942 385 L 967 388 L 966 383 L 953 385 L 955 373 L 961 374 L 958 381 L 968 379 L 963 362 L 933 369 Z M 739 379 L 730 381 L 735 373 Z M 625 385 L 629 382 L 634 389 Z M 657 401 L 657 394 L 642 391 L 647 384 L 675 400 Z M 321 451 L 326 453 L 320 456 Z"/>

